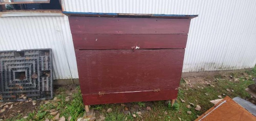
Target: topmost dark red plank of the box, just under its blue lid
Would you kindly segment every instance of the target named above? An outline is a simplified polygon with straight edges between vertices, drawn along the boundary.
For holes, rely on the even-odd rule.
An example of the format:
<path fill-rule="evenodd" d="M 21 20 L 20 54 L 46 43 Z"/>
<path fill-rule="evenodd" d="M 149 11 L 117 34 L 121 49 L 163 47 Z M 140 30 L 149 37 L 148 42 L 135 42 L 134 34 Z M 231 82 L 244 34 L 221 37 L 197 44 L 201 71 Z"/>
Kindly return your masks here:
<path fill-rule="evenodd" d="M 72 34 L 188 34 L 190 19 L 68 17 Z"/>

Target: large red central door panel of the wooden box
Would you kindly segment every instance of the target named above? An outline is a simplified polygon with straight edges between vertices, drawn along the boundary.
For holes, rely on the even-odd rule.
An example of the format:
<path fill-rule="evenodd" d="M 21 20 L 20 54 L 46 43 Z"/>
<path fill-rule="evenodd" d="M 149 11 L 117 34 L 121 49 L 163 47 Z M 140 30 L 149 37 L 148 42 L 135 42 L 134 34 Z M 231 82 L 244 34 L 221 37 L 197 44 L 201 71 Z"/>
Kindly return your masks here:
<path fill-rule="evenodd" d="M 82 94 L 179 87 L 185 49 L 75 50 Z"/>

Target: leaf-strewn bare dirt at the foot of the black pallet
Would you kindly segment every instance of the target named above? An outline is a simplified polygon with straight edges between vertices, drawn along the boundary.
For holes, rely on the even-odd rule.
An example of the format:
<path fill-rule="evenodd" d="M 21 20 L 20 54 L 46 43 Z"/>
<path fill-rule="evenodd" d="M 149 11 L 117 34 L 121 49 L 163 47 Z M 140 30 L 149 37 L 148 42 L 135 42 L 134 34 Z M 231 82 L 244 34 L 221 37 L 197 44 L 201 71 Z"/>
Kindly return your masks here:
<path fill-rule="evenodd" d="M 0 102 L 0 105 L 3 106 L 0 109 L 5 110 L 0 113 L 0 118 L 5 120 L 17 115 L 20 115 L 20 117 L 27 116 L 27 114 L 39 108 L 40 103 L 41 101 L 36 101 L 35 105 L 32 101 Z"/>

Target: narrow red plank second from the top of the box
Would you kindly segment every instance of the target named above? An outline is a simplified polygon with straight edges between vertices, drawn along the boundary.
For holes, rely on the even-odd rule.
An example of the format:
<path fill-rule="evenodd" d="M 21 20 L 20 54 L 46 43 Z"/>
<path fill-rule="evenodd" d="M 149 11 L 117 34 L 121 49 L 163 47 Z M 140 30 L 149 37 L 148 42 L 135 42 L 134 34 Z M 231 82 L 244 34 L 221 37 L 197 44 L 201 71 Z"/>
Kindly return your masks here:
<path fill-rule="evenodd" d="M 75 49 L 185 48 L 188 34 L 72 34 Z"/>

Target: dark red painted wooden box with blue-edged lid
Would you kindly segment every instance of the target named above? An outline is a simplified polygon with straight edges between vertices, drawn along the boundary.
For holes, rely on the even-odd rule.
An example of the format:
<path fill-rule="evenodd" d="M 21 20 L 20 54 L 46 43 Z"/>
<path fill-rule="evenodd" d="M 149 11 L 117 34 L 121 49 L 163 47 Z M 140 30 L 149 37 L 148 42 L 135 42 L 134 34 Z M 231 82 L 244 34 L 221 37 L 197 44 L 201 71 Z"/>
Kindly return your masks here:
<path fill-rule="evenodd" d="M 70 13 L 84 104 L 176 99 L 194 17 Z"/>

